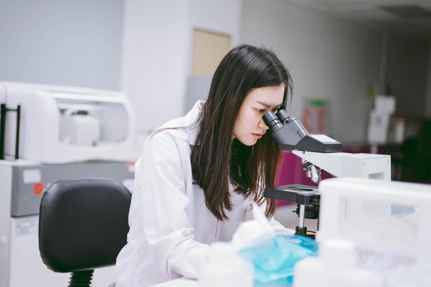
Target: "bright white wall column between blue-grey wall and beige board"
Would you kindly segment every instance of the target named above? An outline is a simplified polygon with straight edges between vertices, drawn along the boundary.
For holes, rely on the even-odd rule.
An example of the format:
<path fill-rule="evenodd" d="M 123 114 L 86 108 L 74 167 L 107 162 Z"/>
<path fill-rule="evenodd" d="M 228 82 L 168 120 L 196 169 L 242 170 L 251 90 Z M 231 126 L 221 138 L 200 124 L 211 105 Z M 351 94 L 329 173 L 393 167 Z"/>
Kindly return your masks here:
<path fill-rule="evenodd" d="M 135 108 L 140 151 L 150 131 L 181 116 L 186 1 L 125 0 L 124 19 L 121 89 Z"/>

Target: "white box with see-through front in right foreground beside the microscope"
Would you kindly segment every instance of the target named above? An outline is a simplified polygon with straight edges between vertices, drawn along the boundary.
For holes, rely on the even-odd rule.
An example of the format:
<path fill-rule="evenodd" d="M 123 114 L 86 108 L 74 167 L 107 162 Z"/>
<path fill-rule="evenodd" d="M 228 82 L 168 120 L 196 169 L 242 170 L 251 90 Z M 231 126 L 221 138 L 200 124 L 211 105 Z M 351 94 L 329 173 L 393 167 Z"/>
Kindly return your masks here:
<path fill-rule="evenodd" d="M 323 180 L 319 193 L 316 241 L 353 242 L 356 265 L 382 286 L 429 286 L 431 185 L 346 177 Z"/>

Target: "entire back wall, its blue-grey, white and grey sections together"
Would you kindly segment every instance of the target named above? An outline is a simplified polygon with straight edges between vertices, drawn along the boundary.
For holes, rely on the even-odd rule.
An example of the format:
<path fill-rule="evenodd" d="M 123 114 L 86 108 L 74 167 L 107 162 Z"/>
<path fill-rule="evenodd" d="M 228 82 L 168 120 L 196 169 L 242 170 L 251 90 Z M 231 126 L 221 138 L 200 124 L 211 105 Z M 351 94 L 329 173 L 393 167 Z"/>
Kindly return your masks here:
<path fill-rule="evenodd" d="M 294 78 L 295 116 L 304 97 L 331 99 L 335 136 L 365 139 L 378 32 L 288 0 L 3 2 L 0 80 L 124 90 L 137 150 L 149 131 L 207 96 L 210 78 L 190 77 L 194 28 L 228 34 L 231 46 L 273 48 Z"/>

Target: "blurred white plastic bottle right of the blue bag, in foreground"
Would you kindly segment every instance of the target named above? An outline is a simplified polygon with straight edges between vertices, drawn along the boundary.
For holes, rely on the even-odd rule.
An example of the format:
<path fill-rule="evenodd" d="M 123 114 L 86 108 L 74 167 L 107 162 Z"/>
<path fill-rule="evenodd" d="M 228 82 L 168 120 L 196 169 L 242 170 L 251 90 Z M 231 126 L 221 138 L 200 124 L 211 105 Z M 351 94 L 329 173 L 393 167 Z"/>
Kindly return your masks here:
<path fill-rule="evenodd" d="M 381 276 L 357 268 L 355 246 L 330 239 L 319 246 L 318 257 L 307 257 L 294 266 L 293 287 L 381 287 Z"/>

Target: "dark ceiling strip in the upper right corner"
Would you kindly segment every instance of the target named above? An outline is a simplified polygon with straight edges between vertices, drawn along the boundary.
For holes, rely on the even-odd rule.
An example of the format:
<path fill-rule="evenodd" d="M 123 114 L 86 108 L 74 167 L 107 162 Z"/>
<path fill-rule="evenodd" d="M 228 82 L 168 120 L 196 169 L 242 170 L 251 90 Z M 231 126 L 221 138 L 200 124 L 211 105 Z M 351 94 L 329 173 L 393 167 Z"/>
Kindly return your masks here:
<path fill-rule="evenodd" d="M 294 0 L 391 34 L 431 40 L 431 0 Z"/>

